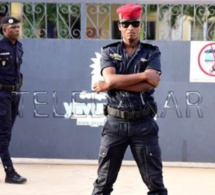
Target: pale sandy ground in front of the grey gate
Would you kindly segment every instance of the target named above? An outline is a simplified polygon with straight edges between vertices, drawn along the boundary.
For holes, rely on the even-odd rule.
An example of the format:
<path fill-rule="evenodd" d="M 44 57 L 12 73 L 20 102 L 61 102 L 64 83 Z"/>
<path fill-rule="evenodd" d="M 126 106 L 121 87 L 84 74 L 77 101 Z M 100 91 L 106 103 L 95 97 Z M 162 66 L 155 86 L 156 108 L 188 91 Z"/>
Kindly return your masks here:
<path fill-rule="evenodd" d="M 90 195 L 96 178 L 94 164 L 15 163 L 28 178 L 24 185 L 5 184 L 0 170 L 0 195 Z M 169 195 L 215 195 L 215 168 L 164 166 Z M 123 165 L 113 195 L 146 195 L 136 166 Z"/>

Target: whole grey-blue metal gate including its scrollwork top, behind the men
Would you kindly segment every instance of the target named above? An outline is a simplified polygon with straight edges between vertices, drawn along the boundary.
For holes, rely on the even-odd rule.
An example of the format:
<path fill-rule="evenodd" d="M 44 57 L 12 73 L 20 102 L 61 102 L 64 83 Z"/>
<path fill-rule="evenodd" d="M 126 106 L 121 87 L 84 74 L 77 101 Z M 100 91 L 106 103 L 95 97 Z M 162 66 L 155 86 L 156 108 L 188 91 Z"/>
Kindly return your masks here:
<path fill-rule="evenodd" d="M 97 98 L 91 87 L 97 79 L 101 47 L 119 36 L 117 29 L 113 31 L 118 20 L 116 8 L 130 2 L 8 2 L 11 1 L 1 0 L 1 17 L 13 14 L 22 20 L 24 48 L 22 101 L 14 126 L 16 139 L 11 143 L 11 154 L 28 158 L 97 159 L 100 127 L 104 122 L 104 117 L 99 115 L 106 100 Z M 181 0 L 181 4 L 176 0 L 132 2 L 143 5 L 142 38 L 153 39 L 154 32 L 155 41 L 146 42 L 157 45 L 162 53 L 162 82 L 156 89 L 155 98 L 159 108 L 157 122 L 163 160 L 215 162 L 215 155 L 212 155 L 215 148 L 214 74 L 204 71 L 213 66 L 214 55 L 210 51 L 215 43 L 190 41 L 212 40 L 206 30 L 209 26 L 203 21 L 213 22 L 213 17 L 203 16 L 206 13 L 206 16 L 213 15 L 214 0 Z M 49 10 L 51 5 L 53 9 Z M 205 12 L 206 8 L 209 12 Z M 188 11 L 195 17 L 185 16 Z M 167 20 L 171 18 L 170 13 L 177 17 Z M 72 20 L 71 16 L 76 16 L 77 20 Z M 49 31 L 50 18 L 54 19 L 54 31 Z M 154 26 L 149 23 L 154 21 Z M 73 24 L 78 22 L 79 28 L 75 28 Z M 171 28 L 167 28 L 169 26 Z M 77 34 L 72 33 L 75 29 Z M 191 76 L 196 82 L 191 82 Z M 95 113 L 99 117 L 95 117 Z M 126 159 L 132 159 L 130 154 Z"/>

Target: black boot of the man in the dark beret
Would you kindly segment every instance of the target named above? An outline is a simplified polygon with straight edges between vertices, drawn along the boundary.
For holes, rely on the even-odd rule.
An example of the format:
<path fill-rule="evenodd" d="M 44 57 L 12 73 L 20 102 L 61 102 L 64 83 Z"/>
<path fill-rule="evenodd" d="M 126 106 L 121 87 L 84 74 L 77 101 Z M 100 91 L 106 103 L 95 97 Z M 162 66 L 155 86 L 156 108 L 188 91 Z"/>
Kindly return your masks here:
<path fill-rule="evenodd" d="M 5 183 L 23 184 L 27 181 L 26 178 L 19 175 L 12 167 L 7 167 L 7 169 L 5 169 L 5 172 Z"/>

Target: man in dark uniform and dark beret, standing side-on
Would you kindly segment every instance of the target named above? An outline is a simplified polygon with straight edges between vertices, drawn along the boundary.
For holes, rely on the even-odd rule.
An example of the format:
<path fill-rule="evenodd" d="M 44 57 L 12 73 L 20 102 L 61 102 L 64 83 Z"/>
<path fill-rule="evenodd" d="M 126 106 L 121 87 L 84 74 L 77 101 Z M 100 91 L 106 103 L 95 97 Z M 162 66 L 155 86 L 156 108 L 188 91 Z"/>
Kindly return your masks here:
<path fill-rule="evenodd" d="M 20 21 L 14 17 L 5 17 L 1 21 L 0 31 L 0 156 L 6 172 L 5 182 L 22 184 L 27 180 L 14 169 L 9 153 L 12 128 L 18 113 L 20 87 L 22 85 L 23 49 L 18 41 Z"/>

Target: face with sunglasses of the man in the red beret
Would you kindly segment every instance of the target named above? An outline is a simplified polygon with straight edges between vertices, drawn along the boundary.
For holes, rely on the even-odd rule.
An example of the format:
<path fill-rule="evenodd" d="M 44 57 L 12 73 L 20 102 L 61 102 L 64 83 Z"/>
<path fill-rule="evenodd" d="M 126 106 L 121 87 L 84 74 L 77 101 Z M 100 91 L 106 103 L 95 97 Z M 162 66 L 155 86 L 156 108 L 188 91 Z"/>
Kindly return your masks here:
<path fill-rule="evenodd" d="M 139 38 L 141 23 L 140 21 L 124 21 L 119 22 L 119 30 L 122 33 L 123 39 L 135 40 Z"/>

